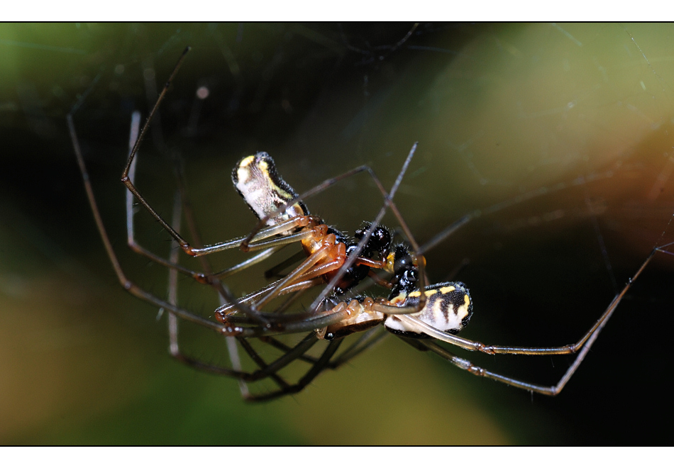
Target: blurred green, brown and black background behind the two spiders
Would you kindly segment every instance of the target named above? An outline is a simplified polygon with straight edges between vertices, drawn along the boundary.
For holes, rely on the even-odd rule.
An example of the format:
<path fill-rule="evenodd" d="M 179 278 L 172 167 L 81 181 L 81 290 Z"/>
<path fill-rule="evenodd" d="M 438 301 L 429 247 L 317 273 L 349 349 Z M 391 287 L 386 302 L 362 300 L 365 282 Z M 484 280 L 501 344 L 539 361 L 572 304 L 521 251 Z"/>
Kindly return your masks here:
<path fill-rule="evenodd" d="M 206 243 L 254 225 L 231 189 L 243 155 L 270 152 L 298 191 L 360 164 L 390 186 L 419 141 L 396 201 L 420 243 L 465 213 L 537 194 L 426 259 L 431 282 L 458 269 L 470 287 L 464 336 L 545 346 L 577 340 L 651 248 L 674 240 L 669 24 L 0 25 L 1 443 L 671 444 L 665 254 L 555 398 L 396 338 L 261 404 L 243 403 L 236 381 L 173 361 L 166 318 L 116 282 L 65 116 L 84 96 L 74 121 L 104 222 L 128 274 L 164 294 L 165 272 L 126 249 L 118 179 L 131 112 L 147 115 L 186 45 L 138 185 L 170 213 L 167 155 L 179 155 Z M 350 232 L 381 203 L 366 177 L 307 201 Z M 143 243 L 167 255 L 169 237 L 137 217 Z M 231 286 L 255 289 L 260 271 Z M 216 299 L 189 286 L 182 305 L 209 316 Z M 186 340 L 193 355 L 226 362 L 212 333 Z M 541 384 L 570 362 L 459 354 Z"/>

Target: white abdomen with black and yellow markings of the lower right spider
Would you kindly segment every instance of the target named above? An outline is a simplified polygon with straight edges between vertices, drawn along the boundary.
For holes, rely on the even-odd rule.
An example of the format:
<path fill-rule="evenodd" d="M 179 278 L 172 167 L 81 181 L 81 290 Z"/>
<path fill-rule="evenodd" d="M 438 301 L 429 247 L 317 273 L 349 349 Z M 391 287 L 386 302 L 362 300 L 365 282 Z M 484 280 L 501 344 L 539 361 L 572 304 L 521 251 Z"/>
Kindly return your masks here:
<path fill-rule="evenodd" d="M 403 306 L 415 306 L 419 304 L 419 291 L 413 291 L 407 295 L 402 303 Z M 455 335 L 468 325 L 473 315 L 473 301 L 470 293 L 463 283 L 447 282 L 429 286 L 426 290 L 426 305 L 421 311 L 411 314 L 421 321 L 428 323 L 433 328 Z M 430 338 L 421 330 L 416 330 L 412 325 L 402 322 L 397 316 L 389 316 L 385 327 L 392 333 L 407 335 L 412 338 Z"/>

